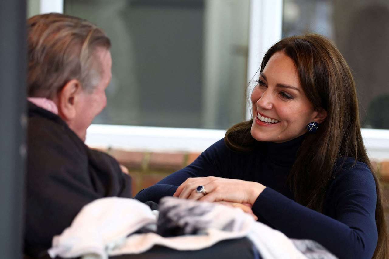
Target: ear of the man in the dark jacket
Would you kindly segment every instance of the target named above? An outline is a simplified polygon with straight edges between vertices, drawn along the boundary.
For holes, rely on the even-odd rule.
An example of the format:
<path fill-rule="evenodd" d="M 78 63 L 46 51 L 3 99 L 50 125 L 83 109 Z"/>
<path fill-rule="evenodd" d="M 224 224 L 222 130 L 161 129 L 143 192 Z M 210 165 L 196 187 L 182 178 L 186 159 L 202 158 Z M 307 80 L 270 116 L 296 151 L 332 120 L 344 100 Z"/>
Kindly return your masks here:
<path fill-rule="evenodd" d="M 72 79 L 58 93 L 58 112 L 65 121 L 71 121 L 77 115 L 76 101 L 80 90 L 80 81 Z"/>

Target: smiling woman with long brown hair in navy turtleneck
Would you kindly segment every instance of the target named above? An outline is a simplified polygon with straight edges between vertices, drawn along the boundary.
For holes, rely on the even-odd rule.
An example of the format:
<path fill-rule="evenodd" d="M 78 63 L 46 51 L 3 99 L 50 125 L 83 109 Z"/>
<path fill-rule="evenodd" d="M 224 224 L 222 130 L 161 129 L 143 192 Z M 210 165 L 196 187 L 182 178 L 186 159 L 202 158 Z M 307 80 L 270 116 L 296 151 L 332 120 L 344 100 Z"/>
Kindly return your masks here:
<path fill-rule="evenodd" d="M 289 37 L 268 50 L 259 72 L 252 119 L 136 198 L 223 201 L 338 258 L 387 258 L 380 185 L 342 55 L 320 35 Z"/>

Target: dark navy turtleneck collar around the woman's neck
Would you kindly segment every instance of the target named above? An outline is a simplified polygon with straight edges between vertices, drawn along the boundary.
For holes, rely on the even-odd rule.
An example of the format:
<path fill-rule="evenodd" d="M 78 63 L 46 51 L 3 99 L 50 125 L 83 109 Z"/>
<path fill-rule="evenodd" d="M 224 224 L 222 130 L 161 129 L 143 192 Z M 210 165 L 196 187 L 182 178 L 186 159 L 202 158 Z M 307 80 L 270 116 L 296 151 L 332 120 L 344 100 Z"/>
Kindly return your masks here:
<path fill-rule="evenodd" d="M 307 134 L 283 143 L 263 142 L 267 158 L 280 166 L 292 166 L 296 161 L 296 154 Z"/>

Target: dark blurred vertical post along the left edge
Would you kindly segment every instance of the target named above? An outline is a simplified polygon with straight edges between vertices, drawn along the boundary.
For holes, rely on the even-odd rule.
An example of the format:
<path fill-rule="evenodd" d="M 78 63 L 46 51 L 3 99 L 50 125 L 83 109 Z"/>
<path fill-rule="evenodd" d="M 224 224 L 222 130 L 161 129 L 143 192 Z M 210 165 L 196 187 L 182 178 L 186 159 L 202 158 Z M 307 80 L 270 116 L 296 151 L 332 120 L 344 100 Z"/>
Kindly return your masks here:
<path fill-rule="evenodd" d="M 0 1 L 0 37 L 0 258 L 19 259 L 26 153 L 26 0 Z"/>

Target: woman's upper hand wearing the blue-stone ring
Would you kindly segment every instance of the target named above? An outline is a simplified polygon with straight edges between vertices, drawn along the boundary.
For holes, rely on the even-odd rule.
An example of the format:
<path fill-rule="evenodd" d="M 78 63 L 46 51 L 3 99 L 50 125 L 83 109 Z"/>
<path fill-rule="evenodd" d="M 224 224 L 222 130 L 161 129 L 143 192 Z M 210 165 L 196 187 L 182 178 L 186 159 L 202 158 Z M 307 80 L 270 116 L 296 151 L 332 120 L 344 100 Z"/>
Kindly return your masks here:
<path fill-rule="evenodd" d="M 200 185 L 204 186 L 206 195 L 196 192 Z M 264 189 L 265 186 L 258 182 L 209 176 L 188 178 L 173 196 L 190 200 L 231 201 L 253 205 Z"/>

